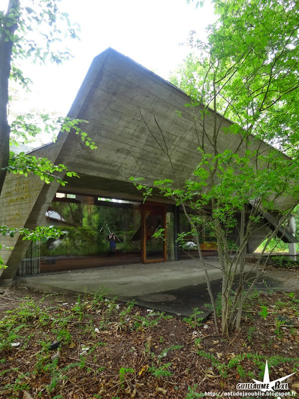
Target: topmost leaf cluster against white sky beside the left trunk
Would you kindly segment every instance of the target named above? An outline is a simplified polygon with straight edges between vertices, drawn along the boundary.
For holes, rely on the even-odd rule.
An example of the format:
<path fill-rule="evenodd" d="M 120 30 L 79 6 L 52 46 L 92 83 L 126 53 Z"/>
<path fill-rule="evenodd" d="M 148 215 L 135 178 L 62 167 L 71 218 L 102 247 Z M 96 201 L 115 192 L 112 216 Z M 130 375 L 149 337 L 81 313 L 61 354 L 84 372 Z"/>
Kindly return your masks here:
<path fill-rule="evenodd" d="M 7 13 L 0 11 L 0 35 L 5 42 L 15 43 L 13 61 L 30 57 L 42 64 L 47 59 L 59 64 L 70 58 L 69 50 L 56 43 L 64 35 L 78 38 L 78 25 L 71 25 L 68 14 L 61 12 L 57 3 L 55 0 L 38 0 L 32 7 L 22 7 L 18 1 L 13 1 Z M 15 24 L 16 29 L 11 33 L 10 28 Z M 13 72 L 12 78 L 24 84 L 21 70 L 14 66 Z"/>

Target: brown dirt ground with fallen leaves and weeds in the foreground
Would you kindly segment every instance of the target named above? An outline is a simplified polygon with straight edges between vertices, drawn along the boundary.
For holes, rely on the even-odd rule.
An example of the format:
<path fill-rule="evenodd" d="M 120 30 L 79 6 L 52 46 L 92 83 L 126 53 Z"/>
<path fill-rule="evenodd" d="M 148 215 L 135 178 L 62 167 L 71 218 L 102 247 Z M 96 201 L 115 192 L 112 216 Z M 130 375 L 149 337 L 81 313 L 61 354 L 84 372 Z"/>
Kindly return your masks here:
<path fill-rule="evenodd" d="M 263 381 L 266 360 L 299 393 L 299 293 L 253 292 L 230 337 L 100 293 L 4 289 L 0 319 L 0 398 L 192 399 Z"/>

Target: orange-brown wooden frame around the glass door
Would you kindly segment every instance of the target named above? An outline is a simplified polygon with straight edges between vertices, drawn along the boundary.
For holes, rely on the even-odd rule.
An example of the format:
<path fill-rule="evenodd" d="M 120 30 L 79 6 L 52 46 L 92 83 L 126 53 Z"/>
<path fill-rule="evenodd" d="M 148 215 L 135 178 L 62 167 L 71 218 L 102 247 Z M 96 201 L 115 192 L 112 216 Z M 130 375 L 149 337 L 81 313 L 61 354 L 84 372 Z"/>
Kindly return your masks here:
<path fill-rule="evenodd" d="M 146 226 L 146 209 L 148 206 L 159 206 L 162 208 L 162 219 L 164 228 L 164 240 L 163 240 L 163 258 L 149 259 L 147 260 L 147 226 Z M 165 262 L 167 260 L 167 229 L 166 229 L 166 205 L 158 202 L 146 202 L 141 205 L 142 215 L 142 262 L 143 263 L 156 263 Z"/>

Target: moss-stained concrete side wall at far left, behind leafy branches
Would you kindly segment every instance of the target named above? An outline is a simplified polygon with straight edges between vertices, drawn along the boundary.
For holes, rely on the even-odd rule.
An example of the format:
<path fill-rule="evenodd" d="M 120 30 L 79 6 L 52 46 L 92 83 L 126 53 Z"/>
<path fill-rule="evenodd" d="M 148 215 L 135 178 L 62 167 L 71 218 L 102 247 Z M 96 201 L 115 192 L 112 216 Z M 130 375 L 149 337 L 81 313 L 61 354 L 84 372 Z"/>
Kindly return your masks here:
<path fill-rule="evenodd" d="M 61 136 L 55 146 L 46 146 L 39 150 L 39 157 L 47 157 L 52 162 L 59 161 L 59 152 L 66 136 Z M 59 162 L 58 162 L 59 163 Z M 64 177 L 64 173 L 60 174 Z M 35 228 L 42 224 L 49 203 L 55 196 L 60 184 L 53 182 L 44 184 L 39 176 L 8 174 L 0 197 L 0 224 L 16 228 Z M 6 248 L 0 250 L 1 257 L 8 267 L 0 269 L 0 285 L 7 283 L 7 279 L 14 276 L 30 241 L 24 241 L 19 234 L 14 237 L 1 238 L 1 244 L 14 247 L 11 251 Z"/>

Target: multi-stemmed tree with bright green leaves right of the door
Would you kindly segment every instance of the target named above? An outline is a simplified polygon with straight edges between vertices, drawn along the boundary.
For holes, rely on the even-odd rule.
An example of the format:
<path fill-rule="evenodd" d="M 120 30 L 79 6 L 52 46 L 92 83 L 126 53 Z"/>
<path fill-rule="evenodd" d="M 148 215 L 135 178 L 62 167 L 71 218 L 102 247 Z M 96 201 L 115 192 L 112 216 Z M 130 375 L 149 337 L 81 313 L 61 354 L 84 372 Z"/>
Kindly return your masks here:
<path fill-rule="evenodd" d="M 219 18 L 209 28 L 207 43 L 191 34 L 190 44 L 198 55 L 190 55 L 172 79 L 191 96 L 186 105 L 192 107 L 198 166 L 183 187 L 174 168 L 171 179 L 166 177 L 151 186 L 183 207 L 220 332 L 199 241 L 203 222 L 213 228 L 223 276 L 224 335 L 240 329 L 244 303 L 267 262 L 263 260 L 267 244 L 287 230 L 299 202 L 299 19 L 292 1 L 216 0 L 215 7 Z M 224 124 L 224 117 L 234 124 Z M 211 123 L 213 130 L 209 132 Z M 169 143 L 158 121 L 157 130 L 171 163 Z M 224 135 L 235 145 L 225 148 Z M 152 187 L 140 179 L 135 179 L 135 184 L 146 197 L 152 194 Z M 265 220 L 272 230 L 255 265 L 248 270 L 245 255 L 249 238 Z M 234 231 L 237 240 L 232 248 Z"/>

